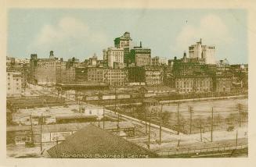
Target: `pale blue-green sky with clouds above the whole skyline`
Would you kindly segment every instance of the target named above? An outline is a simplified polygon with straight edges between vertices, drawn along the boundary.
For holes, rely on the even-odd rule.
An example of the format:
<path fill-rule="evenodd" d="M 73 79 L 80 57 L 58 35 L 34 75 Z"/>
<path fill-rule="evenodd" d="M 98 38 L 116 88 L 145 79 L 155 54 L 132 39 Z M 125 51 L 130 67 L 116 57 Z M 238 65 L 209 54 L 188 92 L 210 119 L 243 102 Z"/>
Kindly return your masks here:
<path fill-rule="evenodd" d="M 131 33 L 132 44 L 151 48 L 151 57 L 182 58 L 202 38 L 215 45 L 217 60 L 247 63 L 245 9 L 9 9 L 7 56 L 84 61 Z"/>

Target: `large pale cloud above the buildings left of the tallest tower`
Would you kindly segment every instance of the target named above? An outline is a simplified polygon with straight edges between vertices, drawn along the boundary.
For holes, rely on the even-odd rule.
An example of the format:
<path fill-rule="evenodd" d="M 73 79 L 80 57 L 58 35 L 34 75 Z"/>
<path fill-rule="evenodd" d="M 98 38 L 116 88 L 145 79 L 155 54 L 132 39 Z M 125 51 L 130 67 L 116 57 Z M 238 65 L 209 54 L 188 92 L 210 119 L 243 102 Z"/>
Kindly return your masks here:
<path fill-rule="evenodd" d="M 106 34 L 101 31 L 90 30 L 82 20 L 74 17 L 63 17 L 54 25 L 47 24 L 42 27 L 37 36 L 34 37 L 34 41 L 28 46 L 27 51 L 46 53 L 53 50 L 61 54 L 56 55 L 58 57 L 81 57 L 85 54 L 85 49 L 92 44 L 106 45 Z M 100 47 L 99 50 L 101 50 Z M 46 57 L 48 55 L 39 56 Z"/>

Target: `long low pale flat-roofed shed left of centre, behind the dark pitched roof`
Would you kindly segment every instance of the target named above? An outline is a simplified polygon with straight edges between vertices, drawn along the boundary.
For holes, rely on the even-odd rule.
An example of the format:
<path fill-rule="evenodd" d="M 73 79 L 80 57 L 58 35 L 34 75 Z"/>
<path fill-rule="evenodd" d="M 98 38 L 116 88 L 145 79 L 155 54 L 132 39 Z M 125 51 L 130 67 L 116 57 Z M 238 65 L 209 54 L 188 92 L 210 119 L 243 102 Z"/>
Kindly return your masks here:
<path fill-rule="evenodd" d="M 68 105 L 67 107 L 20 109 L 13 113 L 13 123 L 20 125 L 31 125 L 31 123 L 38 125 L 41 118 L 44 124 L 58 123 L 59 120 L 67 119 L 103 119 L 103 107 Z"/>

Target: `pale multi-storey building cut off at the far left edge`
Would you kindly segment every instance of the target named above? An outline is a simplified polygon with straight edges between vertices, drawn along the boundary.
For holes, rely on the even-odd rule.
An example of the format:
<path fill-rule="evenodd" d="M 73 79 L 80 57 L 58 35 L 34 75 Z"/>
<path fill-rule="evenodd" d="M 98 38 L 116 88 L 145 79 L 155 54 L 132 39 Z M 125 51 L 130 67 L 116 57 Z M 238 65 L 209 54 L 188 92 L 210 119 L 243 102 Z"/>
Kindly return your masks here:
<path fill-rule="evenodd" d="M 7 97 L 20 96 L 21 94 L 21 73 L 14 71 L 7 71 Z"/>

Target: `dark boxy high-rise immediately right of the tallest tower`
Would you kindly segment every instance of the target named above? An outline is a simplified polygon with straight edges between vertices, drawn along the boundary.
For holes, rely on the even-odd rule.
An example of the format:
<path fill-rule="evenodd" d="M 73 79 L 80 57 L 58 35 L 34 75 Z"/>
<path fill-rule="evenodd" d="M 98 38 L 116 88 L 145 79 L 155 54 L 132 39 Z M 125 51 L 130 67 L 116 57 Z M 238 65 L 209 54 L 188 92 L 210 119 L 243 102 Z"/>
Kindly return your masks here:
<path fill-rule="evenodd" d="M 130 52 L 131 63 L 135 66 L 150 66 L 151 64 L 151 49 L 142 48 L 142 42 L 139 47 L 134 47 Z"/>

